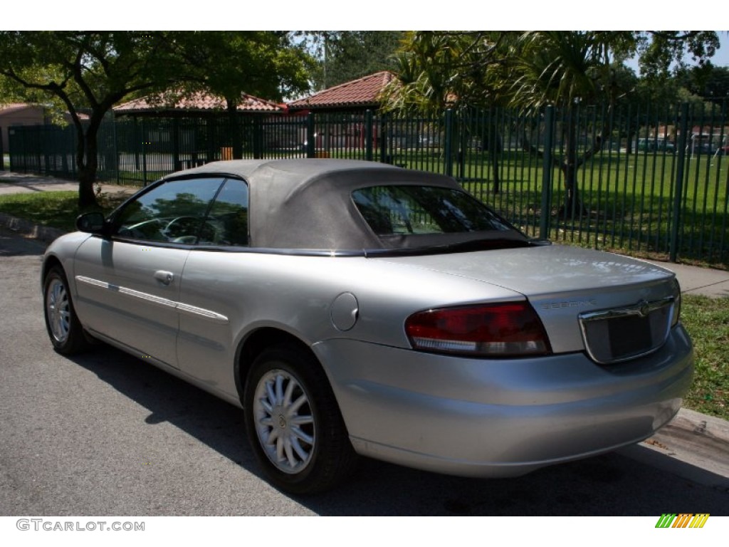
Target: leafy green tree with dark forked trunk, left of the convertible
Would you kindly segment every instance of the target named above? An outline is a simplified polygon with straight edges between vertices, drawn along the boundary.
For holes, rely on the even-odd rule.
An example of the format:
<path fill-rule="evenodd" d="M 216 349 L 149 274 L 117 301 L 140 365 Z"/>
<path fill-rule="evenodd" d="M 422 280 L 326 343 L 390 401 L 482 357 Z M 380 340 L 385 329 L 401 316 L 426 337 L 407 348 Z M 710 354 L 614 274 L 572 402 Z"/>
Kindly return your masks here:
<path fill-rule="evenodd" d="M 15 90 L 53 97 L 69 113 L 82 209 L 95 205 L 98 129 L 117 102 L 195 88 L 276 98 L 307 85 L 305 54 L 273 31 L 1 31 L 0 58 Z"/>

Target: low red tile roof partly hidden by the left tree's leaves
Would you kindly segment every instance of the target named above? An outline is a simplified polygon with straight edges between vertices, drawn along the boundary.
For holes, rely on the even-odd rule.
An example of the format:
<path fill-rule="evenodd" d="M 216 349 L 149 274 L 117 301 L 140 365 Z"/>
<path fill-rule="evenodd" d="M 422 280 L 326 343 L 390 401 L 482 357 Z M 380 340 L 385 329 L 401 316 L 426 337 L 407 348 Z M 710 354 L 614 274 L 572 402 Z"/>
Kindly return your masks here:
<path fill-rule="evenodd" d="M 174 102 L 173 102 L 174 101 Z M 133 101 L 114 106 L 114 112 L 131 114 L 136 112 L 165 112 L 169 110 L 184 110 L 187 112 L 209 112 L 211 110 L 225 110 L 225 98 L 208 95 L 207 93 L 194 93 L 191 96 L 175 98 L 165 101 L 163 95 L 138 98 Z M 273 101 L 266 101 L 247 93 L 241 94 L 238 103 L 238 112 L 285 112 L 286 105 Z"/>

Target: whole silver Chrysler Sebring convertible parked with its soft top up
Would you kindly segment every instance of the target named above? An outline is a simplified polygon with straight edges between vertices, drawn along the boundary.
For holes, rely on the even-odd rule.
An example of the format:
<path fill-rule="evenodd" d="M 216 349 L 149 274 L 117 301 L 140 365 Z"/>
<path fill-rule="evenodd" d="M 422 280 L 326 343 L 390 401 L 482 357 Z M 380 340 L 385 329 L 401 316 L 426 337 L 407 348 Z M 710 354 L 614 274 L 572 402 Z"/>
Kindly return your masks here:
<path fill-rule="evenodd" d="M 243 408 L 288 492 L 357 456 L 519 476 L 652 435 L 693 374 L 674 274 L 534 241 L 446 176 L 233 160 L 83 214 L 42 268 L 50 341 L 104 341 Z"/>

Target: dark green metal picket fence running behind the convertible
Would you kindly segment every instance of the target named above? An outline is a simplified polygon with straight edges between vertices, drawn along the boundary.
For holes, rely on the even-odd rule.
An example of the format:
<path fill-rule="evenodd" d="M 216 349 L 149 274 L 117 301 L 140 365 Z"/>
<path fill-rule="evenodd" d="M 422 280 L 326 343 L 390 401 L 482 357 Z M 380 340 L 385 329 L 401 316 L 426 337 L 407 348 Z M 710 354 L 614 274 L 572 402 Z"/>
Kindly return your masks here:
<path fill-rule="evenodd" d="M 726 265 L 726 106 L 109 119 L 98 178 L 144 185 L 234 157 L 379 161 L 453 176 L 533 236 Z M 13 128 L 9 167 L 73 179 L 74 139 L 73 128 Z"/>

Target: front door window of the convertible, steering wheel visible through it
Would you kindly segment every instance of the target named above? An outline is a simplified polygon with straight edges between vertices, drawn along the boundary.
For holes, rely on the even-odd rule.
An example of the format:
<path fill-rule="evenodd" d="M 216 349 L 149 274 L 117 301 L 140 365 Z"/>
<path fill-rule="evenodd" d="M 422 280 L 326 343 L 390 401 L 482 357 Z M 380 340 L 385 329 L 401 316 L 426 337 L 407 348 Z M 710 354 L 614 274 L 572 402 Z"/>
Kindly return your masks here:
<path fill-rule="evenodd" d="M 122 209 L 114 235 L 183 244 L 213 240 L 217 228 L 206 217 L 221 184 L 218 177 L 164 182 Z"/>

